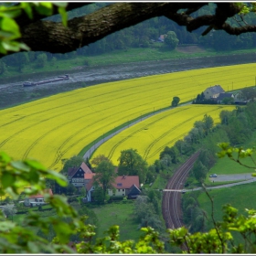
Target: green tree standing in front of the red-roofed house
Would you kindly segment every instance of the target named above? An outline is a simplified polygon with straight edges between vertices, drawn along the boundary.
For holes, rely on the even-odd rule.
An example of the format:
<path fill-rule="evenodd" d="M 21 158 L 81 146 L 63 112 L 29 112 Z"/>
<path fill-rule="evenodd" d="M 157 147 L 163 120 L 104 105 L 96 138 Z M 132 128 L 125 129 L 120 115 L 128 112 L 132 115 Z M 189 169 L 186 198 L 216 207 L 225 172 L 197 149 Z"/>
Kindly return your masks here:
<path fill-rule="evenodd" d="M 103 160 L 95 169 L 94 183 L 102 188 L 103 197 L 106 197 L 108 189 L 112 189 L 116 173 L 114 165 L 109 160 Z M 94 192 L 95 193 L 95 192 Z"/>

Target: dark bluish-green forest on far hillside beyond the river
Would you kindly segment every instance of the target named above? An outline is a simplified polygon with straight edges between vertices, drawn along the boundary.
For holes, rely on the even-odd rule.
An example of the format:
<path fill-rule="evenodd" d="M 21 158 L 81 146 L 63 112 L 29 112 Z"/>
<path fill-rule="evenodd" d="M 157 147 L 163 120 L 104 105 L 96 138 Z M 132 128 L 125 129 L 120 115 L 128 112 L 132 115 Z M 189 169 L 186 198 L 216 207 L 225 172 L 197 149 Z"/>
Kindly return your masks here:
<path fill-rule="evenodd" d="M 69 19 L 76 16 L 90 14 L 95 10 L 110 3 L 94 3 L 85 5 L 81 8 L 69 11 Z M 215 4 L 199 9 L 194 16 L 202 16 L 212 14 Z M 51 16 L 47 18 L 51 21 L 60 21 L 60 16 Z M 246 16 L 246 22 L 255 24 L 256 17 L 253 14 Z M 229 18 L 230 24 L 236 24 L 234 18 Z M 187 32 L 186 27 L 180 27 L 176 22 L 169 20 L 165 16 L 159 16 L 146 20 L 133 27 L 125 28 L 115 32 L 110 36 L 104 37 L 101 40 L 83 48 L 78 48 L 76 51 L 65 54 L 51 54 L 48 52 L 22 52 L 7 56 L 0 61 L 0 74 L 5 72 L 7 66 L 23 69 L 27 63 L 36 63 L 37 68 L 43 68 L 44 65 L 51 61 L 52 65 L 59 59 L 72 59 L 80 56 L 93 56 L 103 53 L 109 53 L 117 49 L 127 48 L 165 48 L 165 44 L 158 41 L 161 35 L 167 35 L 173 31 L 178 39 L 178 45 L 198 45 L 202 48 L 211 48 L 216 51 L 235 50 L 244 48 L 254 48 L 256 46 L 256 34 L 247 33 L 240 36 L 230 36 L 224 31 L 212 30 L 207 36 L 202 37 L 201 34 L 205 27 L 200 27 L 196 31 Z M 162 45 L 161 45 L 162 44 Z M 88 65 L 88 63 L 84 63 Z"/>

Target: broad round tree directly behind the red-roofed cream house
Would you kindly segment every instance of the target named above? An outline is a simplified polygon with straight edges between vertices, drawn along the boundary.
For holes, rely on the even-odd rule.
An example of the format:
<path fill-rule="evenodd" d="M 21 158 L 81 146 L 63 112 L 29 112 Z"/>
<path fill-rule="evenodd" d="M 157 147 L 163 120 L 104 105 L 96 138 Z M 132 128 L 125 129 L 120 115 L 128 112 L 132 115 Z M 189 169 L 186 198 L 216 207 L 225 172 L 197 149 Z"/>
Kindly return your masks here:
<path fill-rule="evenodd" d="M 137 153 L 136 149 L 126 149 L 118 158 L 118 174 L 123 176 L 139 176 L 140 183 L 144 183 L 147 173 L 147 163 Z"/>

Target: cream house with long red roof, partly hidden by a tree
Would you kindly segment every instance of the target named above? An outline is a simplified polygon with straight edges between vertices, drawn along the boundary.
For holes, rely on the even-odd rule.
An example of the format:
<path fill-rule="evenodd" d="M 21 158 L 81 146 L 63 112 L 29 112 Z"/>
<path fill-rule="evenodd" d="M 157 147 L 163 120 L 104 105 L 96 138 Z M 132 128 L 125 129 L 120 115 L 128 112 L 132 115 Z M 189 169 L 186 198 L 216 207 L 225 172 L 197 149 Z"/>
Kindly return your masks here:
<path fill-rule="evenodd" d="M 95 174 L 93 174 L 95 175 Z M 136 198 L 141 194 L 139 176 L 117 176 L 112 184 L 114 189 L 109 189 L 110 197 L 128 197 L 130 199 Z M 87 194 L 85 202 L 93 201 L 93 177 L 85 186 Z"/>

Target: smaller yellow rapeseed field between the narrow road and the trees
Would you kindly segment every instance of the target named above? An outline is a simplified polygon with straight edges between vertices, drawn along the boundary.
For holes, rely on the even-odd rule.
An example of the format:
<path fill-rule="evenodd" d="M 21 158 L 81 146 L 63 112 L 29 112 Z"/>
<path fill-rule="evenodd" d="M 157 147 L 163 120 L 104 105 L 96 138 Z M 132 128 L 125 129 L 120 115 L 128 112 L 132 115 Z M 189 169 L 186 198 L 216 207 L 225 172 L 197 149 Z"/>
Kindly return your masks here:
<path fill-rule="evenodd" d="M 94 155 L 106 155 L 117 165 L 120 152 L 133 147 L 148 164 L 153 164 L 165 146 L 172 146 L 183 139 L 204 114 L 209 114 L 216 124 L 219 123 L 219 112 L 233 109 L 234 106 L 187 105 L 162 112 L 118 133 L 101 144 Z"/>

